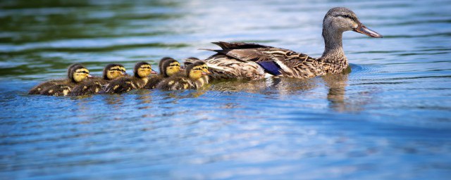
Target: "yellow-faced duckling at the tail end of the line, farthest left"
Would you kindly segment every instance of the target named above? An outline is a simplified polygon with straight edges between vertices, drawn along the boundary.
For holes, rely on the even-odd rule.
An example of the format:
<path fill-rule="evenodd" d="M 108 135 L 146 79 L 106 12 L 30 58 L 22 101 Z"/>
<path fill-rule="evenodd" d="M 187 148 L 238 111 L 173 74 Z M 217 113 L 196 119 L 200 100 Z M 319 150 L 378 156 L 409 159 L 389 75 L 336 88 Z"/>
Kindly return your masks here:
<path fill-rule="evenodd" d="M 39 94 L 47 96 L 66 96 L 72 91 L 73 87 L 85 81 L 89 75 L 89 70 L 83 65 L 71 65 L 68 70 L 68 79 L 62 82 L 54 82 L 49 86 L 42 86 Z"/>

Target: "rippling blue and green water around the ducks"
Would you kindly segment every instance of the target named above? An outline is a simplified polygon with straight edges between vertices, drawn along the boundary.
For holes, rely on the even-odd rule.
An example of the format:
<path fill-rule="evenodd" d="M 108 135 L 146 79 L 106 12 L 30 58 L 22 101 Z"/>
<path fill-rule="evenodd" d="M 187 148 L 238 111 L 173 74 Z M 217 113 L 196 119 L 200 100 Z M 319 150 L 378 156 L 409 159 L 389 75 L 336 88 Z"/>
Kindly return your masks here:
<path fill-rule="evenodd" d="M 346 6 L 351 72 L 198 91 L 29 96 L 71 63 L 154 67 L 211 41 L 321 56 Z M 451 1 L 1 1 L 0 179 L 450 179 Z"/>

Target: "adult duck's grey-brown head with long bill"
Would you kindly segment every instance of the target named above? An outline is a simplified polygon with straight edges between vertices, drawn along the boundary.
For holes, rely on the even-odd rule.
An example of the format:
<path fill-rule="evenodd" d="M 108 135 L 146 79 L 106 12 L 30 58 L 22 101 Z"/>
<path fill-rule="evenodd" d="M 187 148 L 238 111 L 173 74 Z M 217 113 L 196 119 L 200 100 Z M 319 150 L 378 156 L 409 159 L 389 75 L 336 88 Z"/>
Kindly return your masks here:
<path fill-rule="evenodd" d="M 360 23 L 357 15 L 348 8 L 331 8 L 324 16 L 323 37 L 329 37 L 333 34 L 342 34 L 345 31 L 354 31 L 365 34 L 369 37 L 382 37 L 381 34 L 370 30 Z"/>

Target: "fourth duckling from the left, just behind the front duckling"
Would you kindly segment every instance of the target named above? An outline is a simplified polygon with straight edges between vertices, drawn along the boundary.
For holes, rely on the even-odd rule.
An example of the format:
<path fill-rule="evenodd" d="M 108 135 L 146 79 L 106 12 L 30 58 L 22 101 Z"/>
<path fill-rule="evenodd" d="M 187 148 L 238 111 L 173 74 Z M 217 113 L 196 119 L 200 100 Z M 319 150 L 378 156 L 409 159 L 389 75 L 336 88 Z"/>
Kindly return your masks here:
<path fill-rule="evenodd" d="M 144 86 L 144 89 L 154 89 L 163 79 L 180 72 L 180 63 L 173 58 L 165 57 L 160 60 L 159 68 L 160 75 L 152 76 L 146 86 Z"/>

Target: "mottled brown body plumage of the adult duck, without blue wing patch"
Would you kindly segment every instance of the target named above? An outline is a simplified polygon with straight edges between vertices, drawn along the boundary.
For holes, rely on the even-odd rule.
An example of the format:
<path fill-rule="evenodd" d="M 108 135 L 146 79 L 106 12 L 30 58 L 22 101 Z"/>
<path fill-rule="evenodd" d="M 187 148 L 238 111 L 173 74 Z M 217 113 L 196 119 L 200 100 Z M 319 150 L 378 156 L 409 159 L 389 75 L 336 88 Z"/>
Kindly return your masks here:
<path fill-rule="evenodd" d="M 345 64 L 318 60 L 288 49 L 259 44 L 216 42 L 223 50 L 205 60 L 214 79 L 263 79 L 265 70 L 254 62 L 273 61 L 280 67 L 283 77 L 306 79 L 335 73 L 347 67 Z M 340 61 L 341 62 L 341 61 Z M 341 71 L 340 71 L 341 72 Z M 274 73 L 273 73 L 274 74 Z"/>

